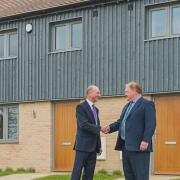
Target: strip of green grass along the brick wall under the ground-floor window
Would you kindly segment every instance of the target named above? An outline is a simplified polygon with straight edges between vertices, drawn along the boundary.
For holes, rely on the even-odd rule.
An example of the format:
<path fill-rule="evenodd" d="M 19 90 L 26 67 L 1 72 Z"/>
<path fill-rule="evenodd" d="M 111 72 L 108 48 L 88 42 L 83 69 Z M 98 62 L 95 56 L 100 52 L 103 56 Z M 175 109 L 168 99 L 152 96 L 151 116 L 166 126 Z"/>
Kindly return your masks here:
<path fill-rule="evenodd" d="M 11 174 L 22 174 L 22 173 L 34 173 L 35 170 L 33 168 L 18 168 L 16 170 L 13 170 L 12 168 L 6 168 L 6 169 L 0 169 L 0 176 L 7 176 Z"/>

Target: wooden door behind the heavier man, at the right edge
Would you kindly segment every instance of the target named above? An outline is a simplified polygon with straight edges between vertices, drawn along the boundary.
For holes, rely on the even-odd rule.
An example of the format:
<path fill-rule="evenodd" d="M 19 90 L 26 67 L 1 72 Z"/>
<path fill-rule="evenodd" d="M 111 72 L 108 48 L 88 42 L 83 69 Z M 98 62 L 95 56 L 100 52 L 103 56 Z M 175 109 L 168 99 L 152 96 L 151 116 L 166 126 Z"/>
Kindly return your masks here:
<path fill-rule="evenodd" d="M 180 96 L 155 98 L 155 174 L 180 174 Z"/>

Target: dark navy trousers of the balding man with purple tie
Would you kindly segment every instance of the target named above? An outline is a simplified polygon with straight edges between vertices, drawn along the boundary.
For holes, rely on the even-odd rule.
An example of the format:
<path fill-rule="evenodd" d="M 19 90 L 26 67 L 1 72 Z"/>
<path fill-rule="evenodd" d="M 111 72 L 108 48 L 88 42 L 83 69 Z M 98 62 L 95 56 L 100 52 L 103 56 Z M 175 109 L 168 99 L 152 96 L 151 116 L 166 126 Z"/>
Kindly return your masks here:
<path fill-rule="evenodd" d="M 76 151 L 71 180 L 80 180 L 82 169 L 82 180 L 93 180 L 95 165 L 96 152 Z"/>

